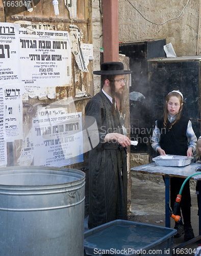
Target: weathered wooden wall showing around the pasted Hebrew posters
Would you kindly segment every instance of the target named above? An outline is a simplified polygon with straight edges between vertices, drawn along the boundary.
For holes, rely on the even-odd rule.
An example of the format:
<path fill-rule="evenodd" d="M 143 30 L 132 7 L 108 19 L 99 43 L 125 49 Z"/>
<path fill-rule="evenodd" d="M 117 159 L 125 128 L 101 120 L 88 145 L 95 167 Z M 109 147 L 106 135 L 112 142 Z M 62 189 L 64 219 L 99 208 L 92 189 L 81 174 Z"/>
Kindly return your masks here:
<path fill-rule="evenodd" d="M 76 25 L 81 33 L 81 42 L 85 44 L 93 44 L 93 61 L 89 62 L 88 71 L 82 72 L 77 65 L 74 55 L 71 53 L 71 82 L 67 86 L 56 87 L 55 98 L 51 99 L 48 95 L 44 97 L 26 97 L 23 99 L 23 138 L 27 136 L 32 127 L 32 118 L 36 113 L 36 108 L 32 106 L 41 106 L 53 103 L 58 100 L 66 99 L 72 96 L 76 101 L 76 108 L 78 112 L 84 114 L 84 108 L 91 96 L 94 95 L 93 85 L 97 84 L 93 82 L 93 69 L 99 69 L 99 8 L 98 0 L 77 0 L 77 17 L 70 19 L 69 11 L 64 5 L 64 1 L 59 1 L 59 15 L 55 15 L 52 1 L 47 0 L 33 0 L 31 7 L 33 10 L 30 12 L 24 5 L 19 6 L 21 1 L 11 1 L 4 3 L 0 2 L 0 22 L 9 22 L 21 24 L 24 27 L 32 26 L 47 29 L 47 30 L 59 30 L 68 31 L 70 25 Z M 22 3 L 22 2 L 21 2 Z M 92 12 L 92 10 L 94 10 Z M 72 45 L 71 45 L 72 47 Z M 16 63 L 17 65 L 17 63 Z M 65 71 L 61 71 L 65 72 Z M 99 86 L 99 81 L 98 81 Z M 96 86 L 96 87 L 98 87 Z M 78 91 L 86 92 L 83 97 L 77 97 Z M 31 108 L 32 107 L 32 108 Z M 30 110 L 31 109 L 31 110 Z M 21 152 L 22 141 L 14 141 L 7 145 L 7 155 L 9 165 L 19 165 L 17 162 Z M 13 154 L 13 159 L 10 158 Z M 85 161 L 80 164 L 75 164 L 68 167 L 82 168 L 87 165 L 87 154 L 84 156 Z"/>

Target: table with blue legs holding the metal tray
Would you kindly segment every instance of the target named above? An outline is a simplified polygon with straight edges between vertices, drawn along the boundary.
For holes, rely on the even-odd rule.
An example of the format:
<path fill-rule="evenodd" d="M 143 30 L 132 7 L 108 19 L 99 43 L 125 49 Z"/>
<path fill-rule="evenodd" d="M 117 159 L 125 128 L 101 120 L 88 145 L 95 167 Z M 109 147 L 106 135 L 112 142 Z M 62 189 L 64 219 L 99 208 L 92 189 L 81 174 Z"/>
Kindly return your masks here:
<path fill-rule="evenodd" d="M 172 166 L 158 166 L 154 162 L 149 164 L 144 164 L 131 168 L 134 172 L 145 173 L 145 174 L 156 174 L 163 175 L 165 178 L 165 226 L 170 227 L 170 214 L 169 214 L 169 195 L 170 195 L 170 178 L 180 177 L 187 178 L 191 174 L 201 173 L 201 171 L 196 172 L 195 168 L 200 166 L 200 163 L 191 163 L 183 167 L 172 167 Z M 193 176 L 191 179 L 201 180 L 201 175 Z M 199 202 L 201 206 L 201 186 L 199 186 Z M 199 235 L 201 235 L 201 207 L 199 207 Z"/>

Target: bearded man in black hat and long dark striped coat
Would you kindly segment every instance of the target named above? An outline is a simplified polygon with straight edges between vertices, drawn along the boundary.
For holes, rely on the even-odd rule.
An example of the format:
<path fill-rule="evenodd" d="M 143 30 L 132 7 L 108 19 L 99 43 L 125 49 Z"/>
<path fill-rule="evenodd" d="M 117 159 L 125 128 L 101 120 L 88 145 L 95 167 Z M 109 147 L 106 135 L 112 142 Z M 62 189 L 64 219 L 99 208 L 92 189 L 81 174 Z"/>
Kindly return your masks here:
<path fill-rule="evenodd" d="M 89 152 L 89 228 L 128 218 L 125 147 L 131 141 L 123 135 L 116 99 L 121 98 L 124 75 L 130 73 L 121 62 L 104 62 L 101 71 L 93 72 L 101 75 L 102 91 L 85 108 L 85 115 L 96 119 L 99 134 L 98 145 Z"/>

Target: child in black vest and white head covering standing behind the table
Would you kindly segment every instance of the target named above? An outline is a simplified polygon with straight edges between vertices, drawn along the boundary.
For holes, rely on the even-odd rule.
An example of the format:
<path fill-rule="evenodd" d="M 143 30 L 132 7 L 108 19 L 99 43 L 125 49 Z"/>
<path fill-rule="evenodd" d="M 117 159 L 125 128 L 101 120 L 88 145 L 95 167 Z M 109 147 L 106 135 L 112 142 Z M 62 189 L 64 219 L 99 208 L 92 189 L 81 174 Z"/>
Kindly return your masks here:
<path fill-rule="evenodd" d="M 192 129 L 190 119 L 181 114 L 182 108 L 182 93 L 180 91 L 171 91 L 168 93 L 164 107 L 164 116 L 156 121 L 152 136 L 152 147 L 155 151 L 159 152 L 160 155 L 193 156 L 197 138 Z M 170 206 L 172 209 L 184 180 L 184 178 L 171 178 Z M 191 227 L 189 180 L 183 188 L 180 206 L 181 208 L 178 209 L 176 215 L 181 216 L 182 211 L 184 224 L 175 222 L 174 228 L 177 229 L 177 234 L 175 234 L 174 237 L 180 237 L 185 233 L 184 240 L 188 241 L 194 238 L 193 229 Z"/>

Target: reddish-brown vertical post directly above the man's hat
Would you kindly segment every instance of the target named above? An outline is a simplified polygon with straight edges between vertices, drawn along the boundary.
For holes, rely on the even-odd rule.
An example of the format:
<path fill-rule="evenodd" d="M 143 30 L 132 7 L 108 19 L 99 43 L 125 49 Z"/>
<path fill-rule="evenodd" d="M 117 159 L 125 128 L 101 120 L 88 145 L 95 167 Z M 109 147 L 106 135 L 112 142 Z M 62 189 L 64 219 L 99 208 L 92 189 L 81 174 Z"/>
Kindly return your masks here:
<path fill-rule="evenodd" d="M 119 61 L 118 0 L 103 0 L 104 62 Z"/>

